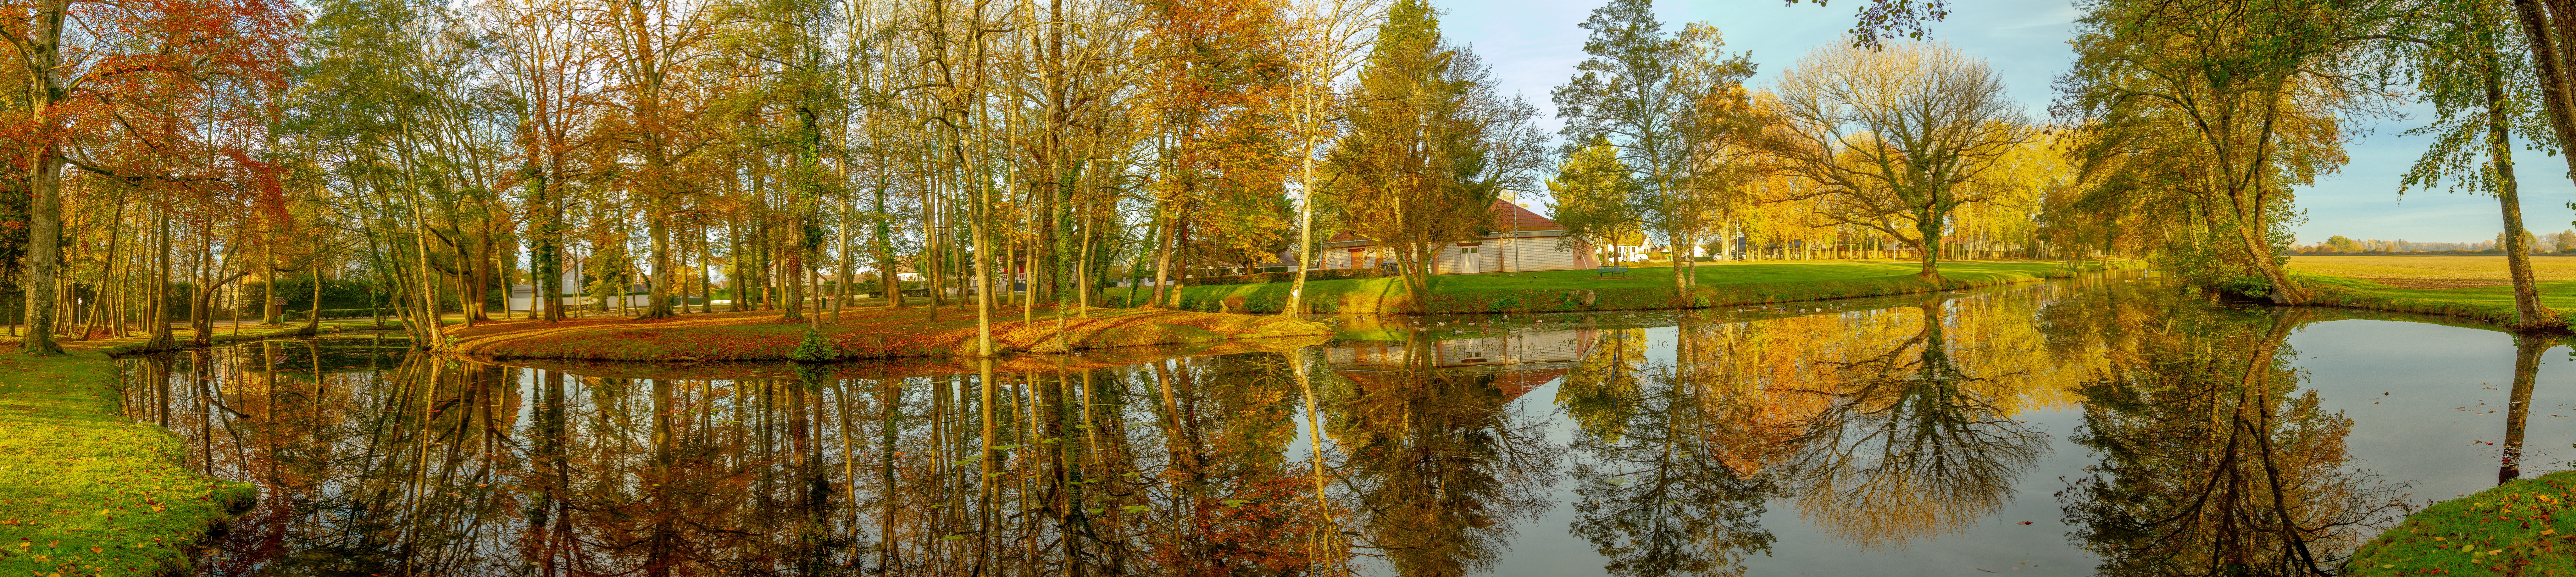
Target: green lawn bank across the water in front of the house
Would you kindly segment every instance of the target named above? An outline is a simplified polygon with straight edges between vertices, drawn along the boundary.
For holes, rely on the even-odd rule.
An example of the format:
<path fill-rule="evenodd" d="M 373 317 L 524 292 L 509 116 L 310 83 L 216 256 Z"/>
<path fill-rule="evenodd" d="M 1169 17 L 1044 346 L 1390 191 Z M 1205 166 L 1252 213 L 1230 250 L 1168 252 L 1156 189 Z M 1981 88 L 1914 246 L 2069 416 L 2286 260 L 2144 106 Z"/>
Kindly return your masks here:
<path fill-rule="evenodd" d="M 1677 299 L 1672 268 L 1628 268 L 1623 278 L 1597 278 L 1592 270 L 1435 276 L 1422 312 L 1623 312 L 1821 301 L 2025 283 L 2094 268 L 2099 265 L 2040 260 L 1942 263 L 1945 283 L 1935 286 L 1914 276 L 1922 265 L 1899 260 L 1723 263 L 1695 270 L 1698 286 L 1692 286 L 1690 299 Z M 1110 288 L 1110 301 L 1123 304 L 1126 294 L 1126 288 Z M 1306 294 L 1311 312 L 1342 314 L 1401 312 L 1406 301 L 1401 278 L 1309 281 Z M 1180 288 L 1182 309 L 1193 312 L 1265 314 L 1280 312 L 1285 301 L 1288 283 Z"/>

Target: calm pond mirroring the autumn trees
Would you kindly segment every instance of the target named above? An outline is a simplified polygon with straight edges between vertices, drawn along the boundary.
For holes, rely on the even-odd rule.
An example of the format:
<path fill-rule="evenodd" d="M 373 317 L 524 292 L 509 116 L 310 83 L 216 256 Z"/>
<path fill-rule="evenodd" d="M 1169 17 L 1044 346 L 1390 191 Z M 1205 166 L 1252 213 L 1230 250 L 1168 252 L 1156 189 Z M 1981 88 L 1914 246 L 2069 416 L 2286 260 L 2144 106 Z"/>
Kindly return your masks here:
<path fill-rule="evenodd" d="M 129 358 L 124 410 L 260 487 L 204 574 L 2287 574 L 2576 456 L 2555 337 L 2136 276 L 1334 322 L 984 366 L 268 340 Z"/>

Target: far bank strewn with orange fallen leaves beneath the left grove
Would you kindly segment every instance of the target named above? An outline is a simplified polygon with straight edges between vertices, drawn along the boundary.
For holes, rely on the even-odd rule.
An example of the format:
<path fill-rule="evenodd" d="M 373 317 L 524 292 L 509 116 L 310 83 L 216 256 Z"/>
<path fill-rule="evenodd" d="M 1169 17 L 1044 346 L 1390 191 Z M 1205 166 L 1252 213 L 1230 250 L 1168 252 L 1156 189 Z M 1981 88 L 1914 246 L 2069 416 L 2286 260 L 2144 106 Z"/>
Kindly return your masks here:
<path fill-rule="evenodd" d="M 822 317 L 829 358 L 914 358 L 976 353 L 974 309 L 842 309 Z M 806 322 L 781 319 L 781 312 L 716 312 L 675 319 L 569 319 L 569 322 L 487 322 L 451 330 L 453 353 L 484 358 L 567 358 L 567 361 L 793 361 Z M 994 312 L 994 348 L 1066 353 L 1133 345 L 1193 345 L 1262 337 L 1332 335 L 1319 322 L 1206 314 L 1164 309 L 1092 309 L 1056 314 L 1038 309 L 1023 322 L 1020 309 Z"/>

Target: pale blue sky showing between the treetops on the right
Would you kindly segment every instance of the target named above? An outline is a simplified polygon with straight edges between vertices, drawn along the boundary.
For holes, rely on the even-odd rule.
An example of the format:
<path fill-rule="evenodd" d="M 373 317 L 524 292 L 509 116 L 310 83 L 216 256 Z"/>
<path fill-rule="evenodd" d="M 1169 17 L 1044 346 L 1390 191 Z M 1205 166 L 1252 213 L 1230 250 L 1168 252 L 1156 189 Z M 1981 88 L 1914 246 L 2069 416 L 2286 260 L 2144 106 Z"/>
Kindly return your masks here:
<path fill-rule="evenodd" d="M 1522 93 L 1540 111 L 1556 111 L 1548 90 L 1574 75 L 1584 59 L 1584 28 L 1577 28 L 1602 3 L 1473 3 L 1432 0 L 1445 13 L 1440 31 L 1458 44 L 1473 46 L 1507 93 Z M 1752 52 L 1762 64 L 1752 85 L 1770 85 L 1780 67 L 1801 54 L 1842 41 L 1852 28 L 1857 0 L 1832 5 L 1783 5 L 1780 0 L 1700 0 L 1656 3 L 1667 28 L 1703 21 L 1726 33 L 1728 49 Z M 2053 100 L 2050 80 L 2074 59 L 2066 39 L 2074 33 L 2076 8 L 2066 0 L 1958 0 L 1950 3 L 1947 21 L 1932 23 L 1932 33 L 1953 46 L 1984 57 L 2002 75 L 2007 88 L 2032 118 L 2045 118 Z M 2298 227 L 2300 242 L 2318 242 L 2329 234 L 2414 242 L 2473 242 L 2494 240 L 2504 229 L 2496 201 L 2470 193 L 2409 191 L 2396 193 L 2398 175 L 2424 152 L 2427 139 L 2401 137 L 2416 118 L 2354 118 L 2347 124 L 2352 162 L 2339 175 L 2298 191 L 2298 206 L 2308 222 Z M 1556 124 L 1548 121 L 1553 129 Z M 2561 178 L 2563 160 L 2522 152 L 2522 222 L 2535 232 L 2568 229 L 2576 211 L 2576 185 Z M 1533 201 L 1535 203 L 1535 201 Z"/>

